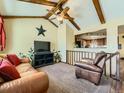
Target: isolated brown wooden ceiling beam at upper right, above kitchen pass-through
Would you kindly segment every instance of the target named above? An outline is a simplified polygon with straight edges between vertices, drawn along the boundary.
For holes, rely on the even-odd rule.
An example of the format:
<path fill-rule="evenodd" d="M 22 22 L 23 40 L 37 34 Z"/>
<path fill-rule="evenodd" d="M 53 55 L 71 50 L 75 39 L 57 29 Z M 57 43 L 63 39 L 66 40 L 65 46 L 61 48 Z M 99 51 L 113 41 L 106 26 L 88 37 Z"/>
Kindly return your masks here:
<path fill-rule="evenodd" d="M 96 9 L 96 12 L 98 14 L 100 22 L 102 24 L 104 24 L 105 23 L 105 18 L 104 18 L 104 15 L 103 15 L 99 0 L 93 0 L 93 4 L 95 6 L 95 9 Z"/>

